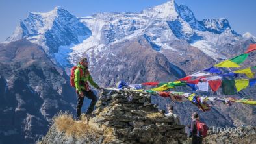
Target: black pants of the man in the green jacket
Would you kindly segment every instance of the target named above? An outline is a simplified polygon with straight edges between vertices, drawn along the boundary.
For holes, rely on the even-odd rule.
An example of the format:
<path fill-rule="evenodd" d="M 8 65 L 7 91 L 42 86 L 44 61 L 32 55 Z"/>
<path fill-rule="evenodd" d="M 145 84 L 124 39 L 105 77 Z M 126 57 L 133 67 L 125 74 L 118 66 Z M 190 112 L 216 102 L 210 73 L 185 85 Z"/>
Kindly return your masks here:
<path fill-rule="evenodd" d="M 97 102 L 97 96 L 94 94 L 92 90 L 90 91 L 82 90 L 82 92 L 84 93 L 84 97 L 88 97 L 88 99 L 92 100 L 86 112 L 86 114 L 91 114 Z M 79 93 L 77 92 L 77 119 L 80 119 L 80 116 L 81 116 L 81 108 L 83 106 L 84 97 L 80 97 Z"/>

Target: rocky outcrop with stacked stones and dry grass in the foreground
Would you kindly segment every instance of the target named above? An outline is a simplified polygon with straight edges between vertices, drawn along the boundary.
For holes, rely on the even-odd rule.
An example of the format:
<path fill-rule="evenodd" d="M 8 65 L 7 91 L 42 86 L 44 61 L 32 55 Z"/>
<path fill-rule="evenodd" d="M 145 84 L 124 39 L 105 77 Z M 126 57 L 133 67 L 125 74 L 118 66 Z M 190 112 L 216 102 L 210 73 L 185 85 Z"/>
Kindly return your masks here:
<path fill-rule="evenodd" d="M 185 126 L 175 125 L 173 117 L 165 117 L 164 110 L 159 111 L 157 105 L 151 104 L 147 93 L 105 90 L 94 114 L 95 117 L 84 117 L 82 121 L 55 117 L 55 123 L 40 143 L 182 143 L 186 140 Z M 87 128 L 80 131 L 78 127 Z"/>

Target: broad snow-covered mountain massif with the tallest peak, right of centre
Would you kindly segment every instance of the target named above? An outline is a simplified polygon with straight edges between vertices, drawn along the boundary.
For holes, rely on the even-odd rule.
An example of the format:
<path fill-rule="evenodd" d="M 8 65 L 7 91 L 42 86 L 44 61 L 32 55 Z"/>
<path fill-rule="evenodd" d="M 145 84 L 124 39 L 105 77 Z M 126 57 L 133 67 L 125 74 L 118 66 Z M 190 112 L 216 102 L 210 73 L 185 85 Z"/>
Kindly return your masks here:
<path fill-rule="evenodd" d="M 175 1 L 147 8 L 140 13 L 98 13 L 81 18 L 81 22 L 92 30 L 92 36 L 72 48 L 71 59 L 86 53 L 91 47 L 94 49 L 88 55 L 92 55 L 91 51 L 97 54 L 107 45 L 144 36 L 153 49 L 163 54 L 166 51 L 183 54 L 183 50 L 174 49 L 172 43 L 181 40 L 179 44 L 183 45 L 185 40 L 210 58 L 222 60 L 232 51 L 230 45 L 248 40 L 232 30 L 227 19 L 198 21 L 187 6 L 178 6 Z M 229 45 L 230 51 L 225 45 Z"/>

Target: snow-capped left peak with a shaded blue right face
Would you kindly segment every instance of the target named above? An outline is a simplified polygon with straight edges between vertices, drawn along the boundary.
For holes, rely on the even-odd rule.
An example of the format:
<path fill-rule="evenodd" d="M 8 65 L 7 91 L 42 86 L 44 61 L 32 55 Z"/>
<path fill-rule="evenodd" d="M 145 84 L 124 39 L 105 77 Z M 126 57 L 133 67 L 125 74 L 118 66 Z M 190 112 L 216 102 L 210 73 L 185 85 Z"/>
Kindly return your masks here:
<path fill-rule="evenodd" d="M 53 62 L 68 66 L 67 46 L 82 42 L 92 32 L 75 16 L 63 8 L 56 7 L 51 12 L 30 12 L 26 19 L 19 22 L 14 34 L 7 38 L 11 42 L 26 38 L 43 47 Z M 64 49 L 64 52 L 63 52 Z M 61 61 L 61 62 L 60 62 Z"/>

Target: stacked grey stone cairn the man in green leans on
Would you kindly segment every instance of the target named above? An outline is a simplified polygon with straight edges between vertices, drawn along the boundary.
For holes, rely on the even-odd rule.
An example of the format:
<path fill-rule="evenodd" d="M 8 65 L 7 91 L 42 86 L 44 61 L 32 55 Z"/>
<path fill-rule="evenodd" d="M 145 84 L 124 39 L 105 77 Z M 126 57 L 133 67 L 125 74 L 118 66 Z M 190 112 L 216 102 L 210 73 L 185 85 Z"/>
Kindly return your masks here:
<path fill-rule="evenodd" d="M 182 143 L 185 126 L 165 117 L 151 95 L 132 90 L 104 90 L 93 118 L 86 123 L 104 131 L 109 143 Z"/>

